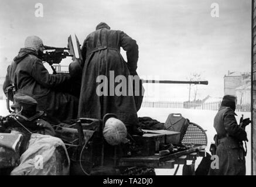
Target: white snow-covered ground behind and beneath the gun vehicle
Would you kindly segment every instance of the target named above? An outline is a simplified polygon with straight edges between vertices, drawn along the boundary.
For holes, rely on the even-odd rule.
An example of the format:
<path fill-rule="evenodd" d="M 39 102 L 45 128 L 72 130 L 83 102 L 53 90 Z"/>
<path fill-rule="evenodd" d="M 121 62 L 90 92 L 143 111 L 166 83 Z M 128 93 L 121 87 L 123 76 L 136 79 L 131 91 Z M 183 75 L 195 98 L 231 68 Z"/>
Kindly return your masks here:
<path fill-rule="evenodd" d="M 216 131 L 213 128 L 213 119 L 217 111 L 214 110 L 196 110 L 196 109 L 168 109 L 168 108 L 141 108 L 138 112 L 139 117 L 149 116 L 153 119 L 158 120 L 159 122 L 165 122 L 170 113 L 181 113 L 183 117 L 189 119 L 191 122 L 199 124 L 207 134 L 208 146 L 206 151 L 209 152 L 210 143 L 213 142 L 214 134 Z M 241 115 L 244 115 L 244 118 L 251 117 L 250 112 L 237 112 L 237 120 L 240 119 Z M 0 100 L 0 115 L 8 115 L 8 110 L 6 109 L 5 100 Z M 247 126 L 248 140 L 247 143 L 247 157 L 246 157 L 246 167 L 247 175 L 251 174 L 251 126 Z M 202 158 L 198 158 L 196 161 L 196 167 L 200 163 Z M 190 163 L 188 163 L 190 164 Z M 175 165 L 175 168 L 177 165 Z M 173 175 L 175 169 L 156 169 L 157 175 Z M 179 167 L 177 175 L 182 175 L 182 166 Z"/>

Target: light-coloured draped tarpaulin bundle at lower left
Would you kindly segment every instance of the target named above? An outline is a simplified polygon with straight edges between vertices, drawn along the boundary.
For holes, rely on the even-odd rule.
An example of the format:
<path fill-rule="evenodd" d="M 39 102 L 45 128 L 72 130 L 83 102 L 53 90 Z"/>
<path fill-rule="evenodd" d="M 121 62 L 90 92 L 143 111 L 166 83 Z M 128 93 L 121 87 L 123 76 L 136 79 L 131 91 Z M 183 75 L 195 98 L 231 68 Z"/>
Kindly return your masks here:
<path fill-rule="evenodd" d="M 32 134 L 21 164 L 11 175 L 69 175 L 70 160 L 60 138 Z"/>

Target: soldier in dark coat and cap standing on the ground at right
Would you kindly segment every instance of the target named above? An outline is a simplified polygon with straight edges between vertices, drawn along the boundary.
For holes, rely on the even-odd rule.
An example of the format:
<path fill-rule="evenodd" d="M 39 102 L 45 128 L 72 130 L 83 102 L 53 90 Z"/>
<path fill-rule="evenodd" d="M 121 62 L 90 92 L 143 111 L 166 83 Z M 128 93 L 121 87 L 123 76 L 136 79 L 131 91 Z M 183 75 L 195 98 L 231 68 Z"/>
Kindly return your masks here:
<path fill-rule="evenodd" d="M 225 95 L 214 117 L 214 128 L 217 131 L 214 139 L 217 145 L 216 155 L 219 157 L 219 169 L 210 168 L 209 175 L 245 175 L 243 141 L 248 140 L 247 133 L 235 119 L 236 103 L 235 96 Z M 250 120 L 246 119 L 243 123 L 249 124 Z"/>

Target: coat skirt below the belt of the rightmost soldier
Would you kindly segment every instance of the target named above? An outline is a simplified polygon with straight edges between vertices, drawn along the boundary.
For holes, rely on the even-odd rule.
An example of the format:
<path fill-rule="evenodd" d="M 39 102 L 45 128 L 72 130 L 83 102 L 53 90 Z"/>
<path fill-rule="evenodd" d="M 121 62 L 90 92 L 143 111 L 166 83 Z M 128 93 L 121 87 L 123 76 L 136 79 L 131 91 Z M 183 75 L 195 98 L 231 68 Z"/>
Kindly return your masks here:
<path fill-rule="evenodd" d="M 210 168 L 209 175 L 245 175 L 244 149 L 233 138 L 222 138 L 216 155 L 219 157 L 219 169 Z"/>

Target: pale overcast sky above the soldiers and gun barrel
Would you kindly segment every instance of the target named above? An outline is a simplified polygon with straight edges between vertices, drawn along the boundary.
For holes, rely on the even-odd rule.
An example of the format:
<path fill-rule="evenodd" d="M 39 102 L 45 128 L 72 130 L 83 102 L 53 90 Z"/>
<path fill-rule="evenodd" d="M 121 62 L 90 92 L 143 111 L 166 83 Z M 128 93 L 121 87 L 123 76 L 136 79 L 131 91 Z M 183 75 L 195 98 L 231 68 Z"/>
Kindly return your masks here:
<path fill-rule="evenodd" d="M 35 4 L 43 4 L 36 18 Z M 219 4 L 219 18 L 211 4 Z M 250 71 L 251 1 L 249 0 L 1 0 L 0 72 L 5 75 L 26 36 L 49 46 L 66 47 L 69 34 L 80 43 L 99 22 L 123 30 L 139 45 L 138 73 L 186 80 L 199 72 L 209 81 L 199 96 L 223 96 L 227 71 Z M 187 96 L 187 85 L 161 85 L 164 98 Z"/>

